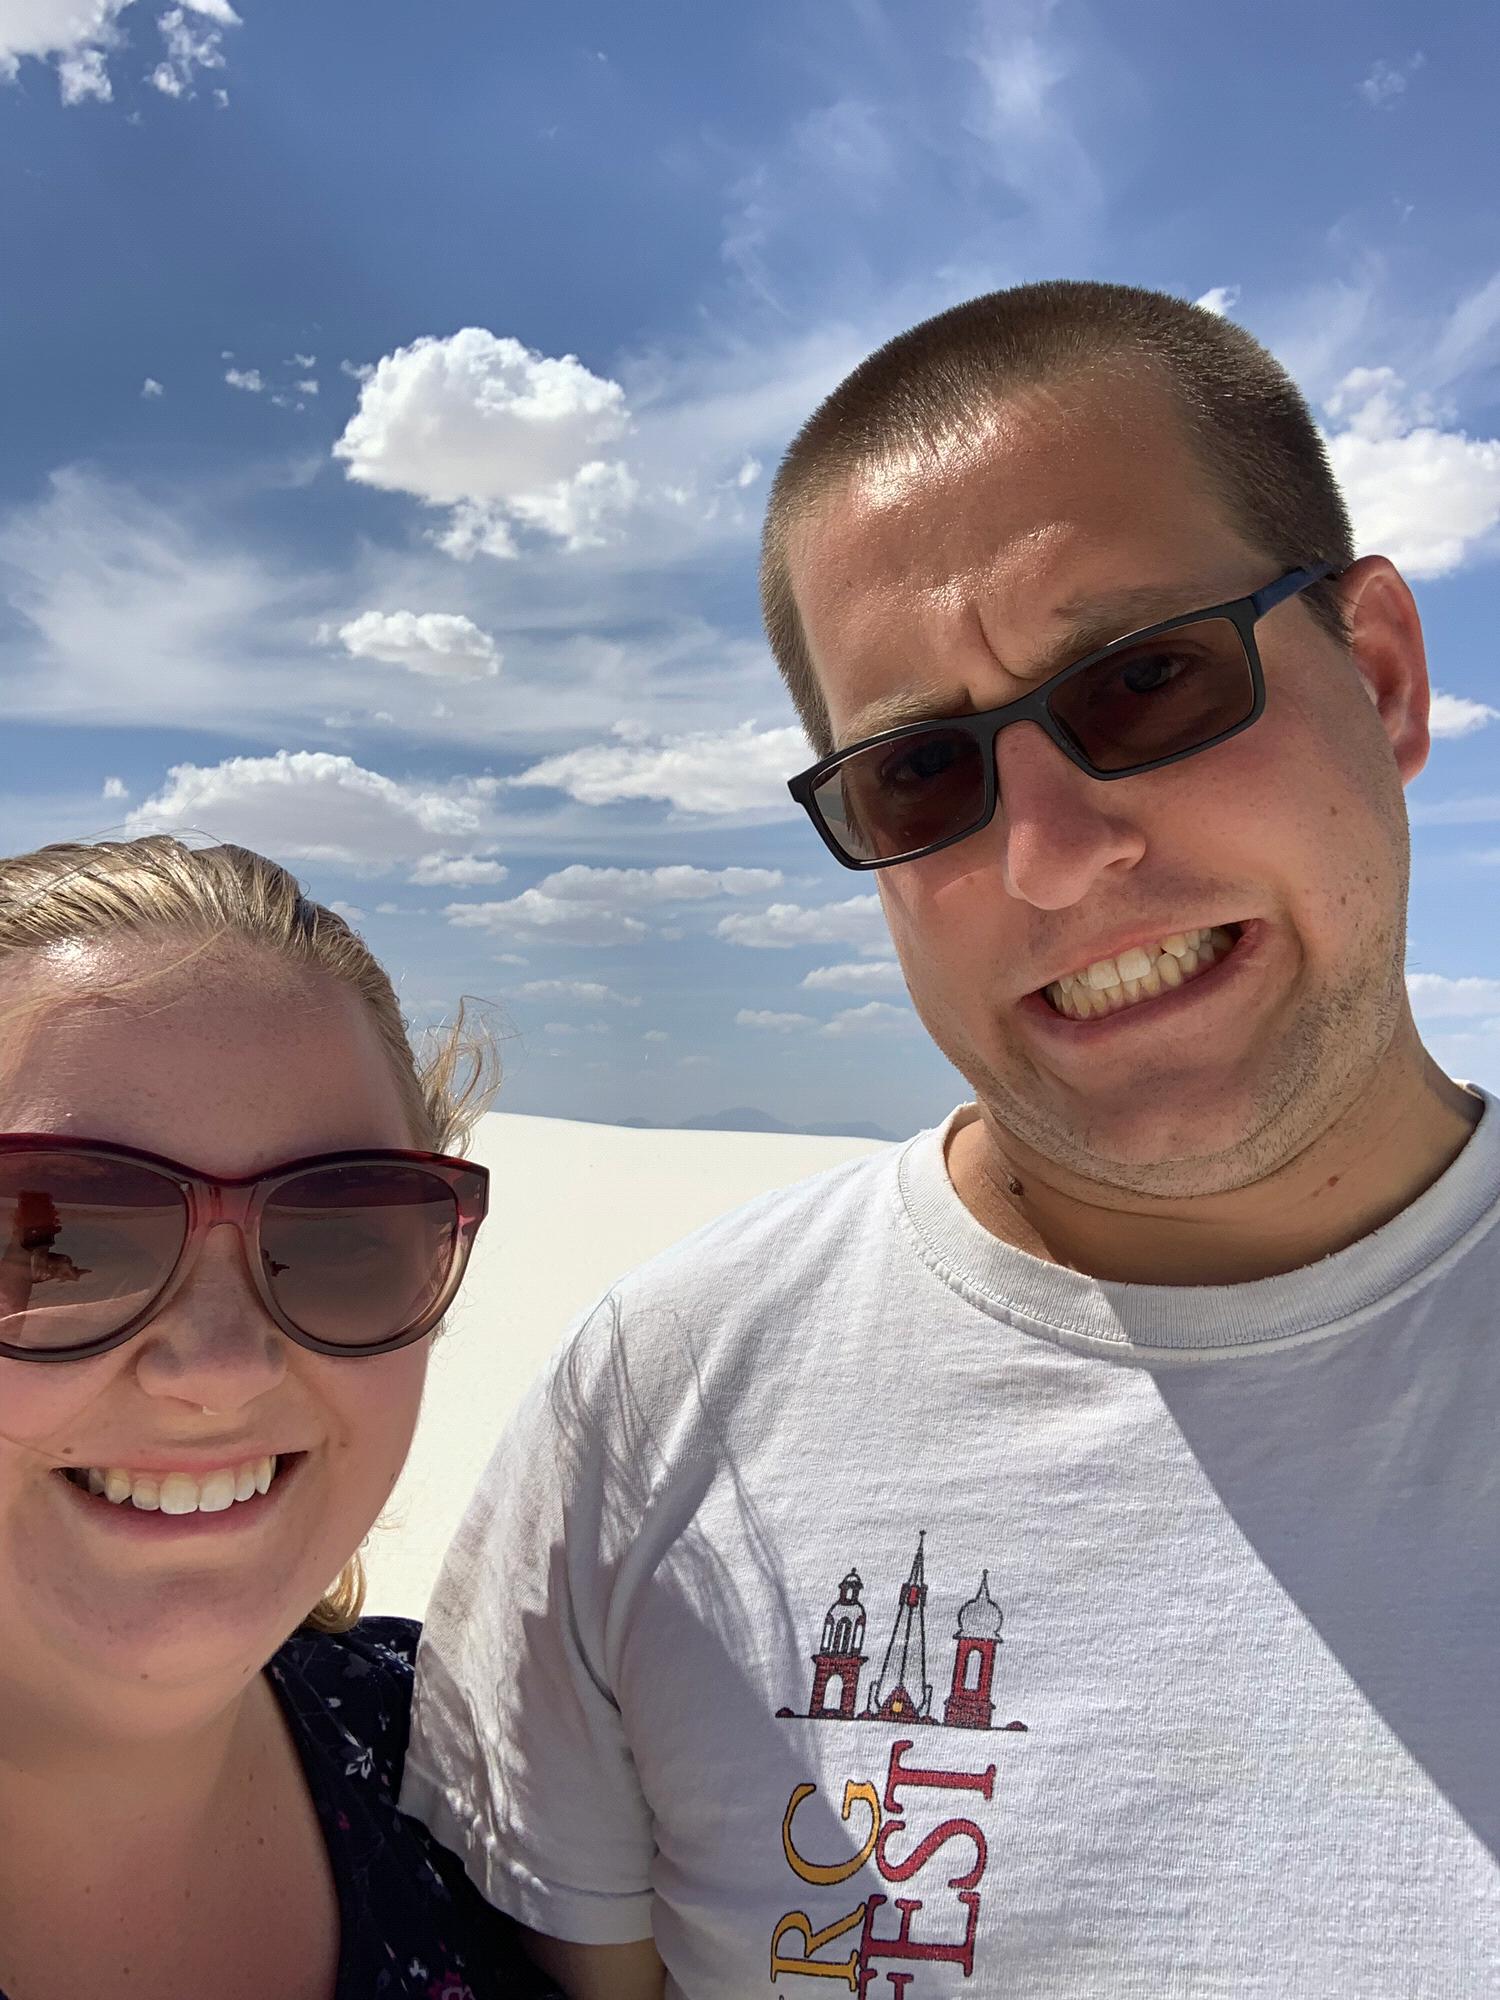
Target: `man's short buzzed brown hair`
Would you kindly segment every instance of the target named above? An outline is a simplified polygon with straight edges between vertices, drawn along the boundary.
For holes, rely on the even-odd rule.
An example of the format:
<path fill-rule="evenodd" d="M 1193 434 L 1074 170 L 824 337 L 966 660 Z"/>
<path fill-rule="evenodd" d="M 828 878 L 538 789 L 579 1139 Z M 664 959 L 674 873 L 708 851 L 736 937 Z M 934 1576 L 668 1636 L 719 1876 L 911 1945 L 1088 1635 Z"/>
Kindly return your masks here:
<path fill-rule="evenodd" d="M 766 512 L 760 600 L 776 664 L 818 756 L 832 724 L 788 574 L 790 530 L 830 488 L 892 452 L 936 450 L 1016 390 L 1152 366 L 1228 518 L 1268 568 L 1354 560 L 1354 542 L 1302 392 L 1242 326 L 1166 292 L 1056 280 L 986 292 L 924 320 L 846 376 L 796 434 Z M 1306 604 L 1340 640 L 1330 584 Z"/>

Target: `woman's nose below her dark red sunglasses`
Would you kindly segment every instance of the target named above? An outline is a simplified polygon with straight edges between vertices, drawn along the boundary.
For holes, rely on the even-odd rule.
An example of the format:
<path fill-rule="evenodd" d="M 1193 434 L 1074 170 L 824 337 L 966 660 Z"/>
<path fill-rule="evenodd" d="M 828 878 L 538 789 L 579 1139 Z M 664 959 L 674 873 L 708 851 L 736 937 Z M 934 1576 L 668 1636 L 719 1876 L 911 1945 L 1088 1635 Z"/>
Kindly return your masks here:
<path fill-rule="evenodd" d="M 250 1282 L 238 1228 L 210 1228 L 182 1290 L 140 1334 L 136 1380 L 222 1416 L 276 1388 L 286 1366 L 286 1336 Z"/>

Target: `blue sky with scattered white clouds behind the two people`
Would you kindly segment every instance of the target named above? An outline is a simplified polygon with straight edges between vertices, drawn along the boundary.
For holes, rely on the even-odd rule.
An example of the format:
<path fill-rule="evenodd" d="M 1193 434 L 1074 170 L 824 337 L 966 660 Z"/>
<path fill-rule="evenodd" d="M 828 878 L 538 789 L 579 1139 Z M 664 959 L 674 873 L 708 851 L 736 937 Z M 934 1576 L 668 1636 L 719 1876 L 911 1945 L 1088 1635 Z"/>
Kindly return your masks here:
<path fill-rule="evenodd" d="M 1130 280 L 1282 356 L 1416 584 L 1412 992 L 1500 1086 L 1498 60 L 1472 0 L 0 0 L 0 842 L 278 854 L 414 1018 L 496 1002 L 512 1110 L 912 1130 L 766 482 L 898 328 Z"/>

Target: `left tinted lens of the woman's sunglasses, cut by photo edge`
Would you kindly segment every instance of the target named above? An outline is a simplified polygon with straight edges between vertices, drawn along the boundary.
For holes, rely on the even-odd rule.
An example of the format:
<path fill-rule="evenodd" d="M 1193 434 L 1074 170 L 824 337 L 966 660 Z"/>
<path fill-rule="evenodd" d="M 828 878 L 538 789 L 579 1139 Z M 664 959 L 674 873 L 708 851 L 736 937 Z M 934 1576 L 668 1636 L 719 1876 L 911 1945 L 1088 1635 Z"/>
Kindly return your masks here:
<path fill-rule="evenodd" d="M 0 1340 L 54 1352 L 144 1312 L 188 1232 L 182 1192 L 128 1160 L 0 1154 Z"/>

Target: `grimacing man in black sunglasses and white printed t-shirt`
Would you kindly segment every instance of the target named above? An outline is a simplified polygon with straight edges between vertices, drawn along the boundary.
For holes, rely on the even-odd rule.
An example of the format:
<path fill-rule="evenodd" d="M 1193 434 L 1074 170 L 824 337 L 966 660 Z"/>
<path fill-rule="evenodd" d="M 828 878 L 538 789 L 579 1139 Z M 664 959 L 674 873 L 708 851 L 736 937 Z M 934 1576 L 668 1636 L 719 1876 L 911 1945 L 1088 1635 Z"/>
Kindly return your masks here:
<path fill-rule="evenodd" d="M 834 392 L 764 586 L 976 1104 L 576 1330 L 408 1802 L 574 1996 L 1500 1990 L 1500 1114 L 1406 1004 L 1406 584 L 1244 332 L 1046 284 Z"/>

